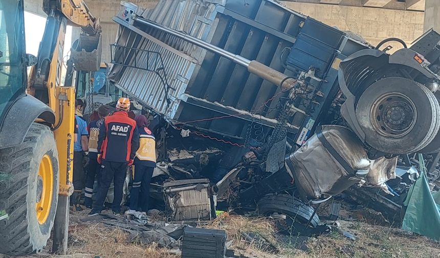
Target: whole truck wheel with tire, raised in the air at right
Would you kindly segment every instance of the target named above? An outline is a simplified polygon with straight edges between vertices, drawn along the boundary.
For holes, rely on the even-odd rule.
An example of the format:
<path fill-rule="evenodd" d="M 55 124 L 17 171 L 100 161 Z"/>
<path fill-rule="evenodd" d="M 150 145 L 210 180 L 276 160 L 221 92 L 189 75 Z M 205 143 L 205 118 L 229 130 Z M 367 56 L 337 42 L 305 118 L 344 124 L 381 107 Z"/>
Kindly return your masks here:
<path fill-rule="evenodd" d="M 440 106 L 424 85 L 400 77 L 371 84 L 356 106 L 365 142 L 383 153 L 413 153 L 426 147 L 440 126 Z"/>

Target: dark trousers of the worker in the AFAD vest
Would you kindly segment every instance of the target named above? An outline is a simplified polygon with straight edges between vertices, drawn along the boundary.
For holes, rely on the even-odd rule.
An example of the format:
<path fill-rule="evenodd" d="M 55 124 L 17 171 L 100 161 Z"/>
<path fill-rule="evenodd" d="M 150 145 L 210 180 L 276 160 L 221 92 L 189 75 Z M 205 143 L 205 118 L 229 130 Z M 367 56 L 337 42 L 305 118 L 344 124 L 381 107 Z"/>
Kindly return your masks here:
<path fill-rule="evenodd" d="M 127 173 L 127 163 L 123 162 L 109 162 L 102 161 L 101 171 L 98 179 L 98 192 L 96 194 L 96 202 L 93 204 L 93 209 L 100 212 L 102 210 L 102 204 L 107 196 L 108 188 L 113 180 L 114 185 L 114 198 L 112 210 L 114 212 L 121 211 L 122 192 Z"/>

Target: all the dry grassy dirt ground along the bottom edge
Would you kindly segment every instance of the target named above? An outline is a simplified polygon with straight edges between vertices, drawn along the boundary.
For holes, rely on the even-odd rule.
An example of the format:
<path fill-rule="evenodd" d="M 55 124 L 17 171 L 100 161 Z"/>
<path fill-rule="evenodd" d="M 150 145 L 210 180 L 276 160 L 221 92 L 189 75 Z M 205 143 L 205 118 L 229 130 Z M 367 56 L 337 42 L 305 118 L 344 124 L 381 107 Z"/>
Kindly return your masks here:
<path fill-rule="evenodd" d="M 88 210 L 71 213 L 69 255 L 50 255 L 47 251 L 43 251 L 40 255 L 30 257 L 180 257 L 179 254 L 157 248 L 155 245 L 128 243 L 127 234 L 120 229 L 108 228 L 99 223 L 81 222 L 80 219 L 86 216 L 87 212 Z M 275 223 L 270 218 L 246 218 L 224 213 L 214 221 L 199 222 L 198 226 L 226 230 L 229 249 L 234 249 L 236 254 L 244 254 L 246 257 L 253 258 L 440 258 L 440 243 L 424 236 L 413 235 L 390 226 L 372 225 L 363 219 L 340 220 L 337 224 L 338 226 L 334 227 L 331 233 L 310 238 L 306 243 L 308 247 L 306 251 L 293 247 L 295 236 L 291 236 L 293 239 L 290 244 L 277 241 Z M 253 231 L 265 236 L 279 249 L 279 252 L 266 252 L 260 247 L 246 242 L 240 234 L 241 231 Z M 356 240 L 344 236 L 344 231 L 349 232 Z M 50 246 L 51 243 L 48 245 L 48 250 L 50 250 Z"/>

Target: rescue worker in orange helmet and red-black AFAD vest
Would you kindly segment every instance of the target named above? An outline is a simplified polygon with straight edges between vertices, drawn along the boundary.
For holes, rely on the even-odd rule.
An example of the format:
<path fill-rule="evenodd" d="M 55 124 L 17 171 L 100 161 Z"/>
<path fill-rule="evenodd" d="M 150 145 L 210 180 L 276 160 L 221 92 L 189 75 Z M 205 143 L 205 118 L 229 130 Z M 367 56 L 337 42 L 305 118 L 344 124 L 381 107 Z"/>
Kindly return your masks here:
<path fill-rule="evenodd" d="M 121 213 L 122 188 L 125 181 L 127 165 L 133 164 L 136 150 L 139 147 L 139 134 L 135 120 L 128 117 L 130 100 L 120 98 L 116 111 L 104 118 L 98 137 L 98 163 L 101 164 L 99 187 L 96 202 L 89 216 L 101 213 L 112 180 L 114 198 L 112 210 Z"/>

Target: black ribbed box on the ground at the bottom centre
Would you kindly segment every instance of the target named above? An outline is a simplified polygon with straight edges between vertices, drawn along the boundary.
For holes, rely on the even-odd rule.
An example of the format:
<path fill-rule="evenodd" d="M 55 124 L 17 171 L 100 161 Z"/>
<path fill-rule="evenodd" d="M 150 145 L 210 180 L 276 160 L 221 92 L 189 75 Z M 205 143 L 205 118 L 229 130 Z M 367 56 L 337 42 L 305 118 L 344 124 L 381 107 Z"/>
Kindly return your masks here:
<path fill-rule="evenodd" d="M 226 231 L 186 227 L 183 233 L 182 258 L 224 258 Z"/>

